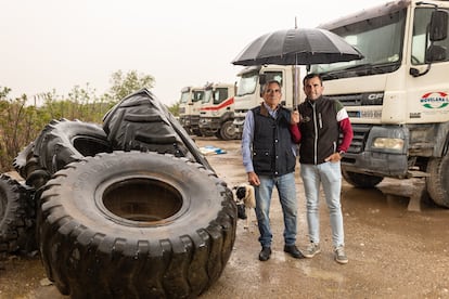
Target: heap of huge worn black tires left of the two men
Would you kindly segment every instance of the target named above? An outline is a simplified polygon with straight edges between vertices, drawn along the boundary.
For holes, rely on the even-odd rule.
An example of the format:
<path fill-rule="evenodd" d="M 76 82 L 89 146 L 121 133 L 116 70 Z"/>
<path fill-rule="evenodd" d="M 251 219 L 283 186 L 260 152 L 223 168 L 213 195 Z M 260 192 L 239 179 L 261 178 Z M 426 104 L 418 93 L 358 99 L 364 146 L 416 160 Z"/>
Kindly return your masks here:
<path fill-rule="evenodd" d="M 230 258 L 232 192 L 146 89 L 115 105 L 103 127 L 53 120 L 14 167 L 34 191 L 23 197 L 36 206 L 36 243 L 63 295 L 196 297 Z"/>

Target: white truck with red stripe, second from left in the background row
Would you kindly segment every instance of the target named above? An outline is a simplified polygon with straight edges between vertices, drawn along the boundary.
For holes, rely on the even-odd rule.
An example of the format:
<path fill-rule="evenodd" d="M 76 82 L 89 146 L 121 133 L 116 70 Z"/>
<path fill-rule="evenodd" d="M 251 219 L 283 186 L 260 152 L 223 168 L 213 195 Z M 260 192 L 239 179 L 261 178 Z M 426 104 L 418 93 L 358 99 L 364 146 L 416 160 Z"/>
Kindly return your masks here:
<path fill-rule="evenodd" d="M 235 84 L 208 83 L 200 108 L 200 131 L 205 136 L 221 140 L 236 138 L 234 120 Z"/>

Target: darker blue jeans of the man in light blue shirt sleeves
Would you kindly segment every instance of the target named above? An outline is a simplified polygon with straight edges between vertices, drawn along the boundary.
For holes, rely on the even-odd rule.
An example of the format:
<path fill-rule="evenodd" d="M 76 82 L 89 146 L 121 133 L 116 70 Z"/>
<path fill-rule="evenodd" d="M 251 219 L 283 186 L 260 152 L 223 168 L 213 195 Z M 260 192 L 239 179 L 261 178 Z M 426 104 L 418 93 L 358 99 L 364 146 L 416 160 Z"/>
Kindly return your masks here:
<path fill-rule="evenodd" d="M 273 187 L 275 186 L 284 214 L 284 242 L 285 245 L 294 245 L 296 242 L 296 185 L 295 173 L 291 172 L 281 177 L 259 176 L 260 185 L 255 186 L 256 216 L 259 226 L 259 242 L 262 247 L 271 246 L 272 233 L 270 227 L 270 205 Z"/>

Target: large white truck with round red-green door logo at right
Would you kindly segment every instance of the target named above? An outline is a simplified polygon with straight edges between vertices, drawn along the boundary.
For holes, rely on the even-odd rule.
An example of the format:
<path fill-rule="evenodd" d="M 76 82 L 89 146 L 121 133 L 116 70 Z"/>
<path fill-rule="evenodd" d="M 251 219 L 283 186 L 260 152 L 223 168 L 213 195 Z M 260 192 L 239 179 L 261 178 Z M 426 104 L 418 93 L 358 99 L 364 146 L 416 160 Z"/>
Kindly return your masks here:
<path fill-rule="evenodd" d="M 311 67 L 352 122 L 342 160 L 352 185 L 425 178 L 431 198 L 449 207 L 448 13 L 449 1 L 393 1 L 319 26 L 364 55 Z"/>

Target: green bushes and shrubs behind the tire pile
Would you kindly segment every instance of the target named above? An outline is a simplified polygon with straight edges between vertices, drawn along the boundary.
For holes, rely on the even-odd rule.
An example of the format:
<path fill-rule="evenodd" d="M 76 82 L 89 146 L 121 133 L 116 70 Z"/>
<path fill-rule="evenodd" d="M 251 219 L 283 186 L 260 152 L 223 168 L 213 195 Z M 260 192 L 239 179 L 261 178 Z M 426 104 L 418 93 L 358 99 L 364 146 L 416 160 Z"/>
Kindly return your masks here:
<path fill-rule="evenodd" d="M 9 96 L 11 89 L 0 87 L 0 171 L 13 170 L 13 160 L 26 145 L 33 142 L 52 119 L 79 119 L 101 123 L 104 114 L 128 94 L 154 86 L 150 75 L 121 70 L 111 76 L 110 90 L 101 95 L 89 84 L 75 86 L 67 95 L 55 91 L 20 98 Z M 178 115 L 179 103 L 168 109 Z"/>

